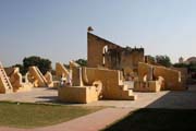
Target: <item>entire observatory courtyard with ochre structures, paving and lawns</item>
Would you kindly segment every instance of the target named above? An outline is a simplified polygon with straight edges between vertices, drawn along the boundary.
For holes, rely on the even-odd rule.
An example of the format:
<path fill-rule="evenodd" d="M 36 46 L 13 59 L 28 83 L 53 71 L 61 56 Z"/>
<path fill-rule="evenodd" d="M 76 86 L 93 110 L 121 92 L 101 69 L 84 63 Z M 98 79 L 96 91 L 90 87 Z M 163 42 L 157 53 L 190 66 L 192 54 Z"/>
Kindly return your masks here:
<path fill-rule="evenodd" d="M 0 64 L 0 107 L 13 106 L 3 111 L 13 114 L 12 122 L 0 121 L 0 131 L 194 130 L 193 74 L 187 68 L 159 64 L 142 47 L 121 47 L 88 32 L 86 66 L 57 62 L 53 72 L 44 73 L 32 64 L 22 74 L 19 67 Z M 15 116 L 26 114 L 23 106 L 35 111 L 30 118 Z M 26 121 L 17 124 L 21 119 Z M 40 122 L 29 124 L 34 119 Z"/>

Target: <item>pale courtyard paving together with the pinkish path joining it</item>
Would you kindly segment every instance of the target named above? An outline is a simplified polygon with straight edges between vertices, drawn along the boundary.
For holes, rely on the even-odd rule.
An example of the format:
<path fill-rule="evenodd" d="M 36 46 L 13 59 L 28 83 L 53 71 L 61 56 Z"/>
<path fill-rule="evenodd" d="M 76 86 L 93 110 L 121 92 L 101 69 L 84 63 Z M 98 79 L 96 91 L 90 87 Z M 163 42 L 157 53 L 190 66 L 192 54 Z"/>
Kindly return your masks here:
<path fill-rule="evenodd" d="M 56 126 L 36 129 L 15 129 L 1 127 L 0 131 L 97 131 L 123 118 L 137 108 L 186 108 L 196 109 L 196 86 L 183 92 L 135 93 L 136 100 L 99 100 L 76 106 L 112 106 L 97 112 Z M 33 88 L 30 92 L 0 94 L 0 100 L 29 103 L 53 103 L 57 90 Z"/>

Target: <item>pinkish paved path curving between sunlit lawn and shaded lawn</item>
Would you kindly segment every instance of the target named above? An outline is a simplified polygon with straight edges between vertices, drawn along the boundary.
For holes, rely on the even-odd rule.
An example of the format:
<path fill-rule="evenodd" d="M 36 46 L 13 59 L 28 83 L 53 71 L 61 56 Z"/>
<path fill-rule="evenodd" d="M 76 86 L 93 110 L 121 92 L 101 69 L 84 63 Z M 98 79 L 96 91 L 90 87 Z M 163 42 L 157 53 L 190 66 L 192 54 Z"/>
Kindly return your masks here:
<path fill-rule="evenodd" d="M 123 118 L 132 108 L 106 108 L 97 112 L 59 123 L 36 129 L 15 129 L 1 127 L 0 131 L 98 131 L 115 120 Z"/>

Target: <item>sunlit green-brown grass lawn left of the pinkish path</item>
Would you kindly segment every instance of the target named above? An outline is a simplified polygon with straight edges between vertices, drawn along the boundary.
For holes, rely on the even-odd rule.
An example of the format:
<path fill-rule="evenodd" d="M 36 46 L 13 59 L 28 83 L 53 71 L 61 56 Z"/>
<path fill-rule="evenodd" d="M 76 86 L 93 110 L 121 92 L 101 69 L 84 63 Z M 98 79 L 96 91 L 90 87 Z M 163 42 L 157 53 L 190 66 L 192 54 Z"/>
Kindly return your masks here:
<path fill-rule="evenodd" d="M 0 126 L 36 128 L 64 122 L 102 107 L 0 103 Z"/>

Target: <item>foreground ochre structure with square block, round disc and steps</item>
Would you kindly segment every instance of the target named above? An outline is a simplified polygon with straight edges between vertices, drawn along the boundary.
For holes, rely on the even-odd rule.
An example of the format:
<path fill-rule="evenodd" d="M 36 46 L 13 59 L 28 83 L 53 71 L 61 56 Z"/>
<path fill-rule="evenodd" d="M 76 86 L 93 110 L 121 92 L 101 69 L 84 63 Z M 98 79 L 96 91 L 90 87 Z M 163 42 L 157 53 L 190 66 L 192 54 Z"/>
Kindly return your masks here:
<path fill-rule="evenodd" d="M 79 67 L 71 61 L 72 86 L 59 87 L 59 99 L 69 103 L 89 103 L 103 99 L 134 100 L 136 95 L 123 85 L 119 70 Z"/>

